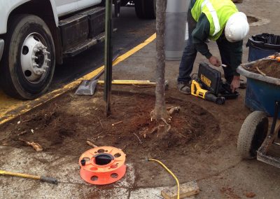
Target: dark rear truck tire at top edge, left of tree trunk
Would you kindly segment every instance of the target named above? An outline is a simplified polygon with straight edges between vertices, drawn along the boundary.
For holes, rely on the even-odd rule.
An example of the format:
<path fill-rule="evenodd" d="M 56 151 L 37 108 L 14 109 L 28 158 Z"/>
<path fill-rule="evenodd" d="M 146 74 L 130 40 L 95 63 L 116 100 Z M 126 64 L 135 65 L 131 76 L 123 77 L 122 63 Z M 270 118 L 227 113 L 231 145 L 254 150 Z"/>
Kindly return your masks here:
<path fill-rule="evenodd" d="M 156 0 L 134 0 L 135 12 L 140 19 L 155 19 Z"/>

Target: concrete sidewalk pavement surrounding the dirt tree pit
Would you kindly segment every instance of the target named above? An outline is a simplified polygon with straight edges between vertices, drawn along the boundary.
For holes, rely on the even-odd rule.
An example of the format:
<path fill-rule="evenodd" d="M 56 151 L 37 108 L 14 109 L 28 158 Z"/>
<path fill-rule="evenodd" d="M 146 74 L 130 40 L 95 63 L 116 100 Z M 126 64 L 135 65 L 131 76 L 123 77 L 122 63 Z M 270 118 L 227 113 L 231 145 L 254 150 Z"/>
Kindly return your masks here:
<path fill-rule="evenodd" d="M 251 26 L 250 35 L 280 33 L 279 22 L 276 20 L 279 18 L 276 10 L 279 3 L 279 0 L 244 0 L 242 4 L 237 4 L 240 11 L 266 19 L 262 20 L 264 23 L 268 22 Z M 244 40 L 244 62 L 248 57 L 248 48 L 245 47 L 247 39 Z M 210 42 L 209 48 L 213 55 L 219 55 L 216 43 Z M 202 61 L 207 60 L 198 54 L 194 72 Z M 249 193 L 255 195 L 255 198 L 279 198 L 280 170 L 257 160 L 241 160 L 237 153 L 239 128 L 250 113 L 244 107 L 245 90 L 239 90 L 241 96 L 238 99 L 230 101 L 224 107 L 218 107 L 211 102 L 181 94 L 176 88 L 178 71 L 179 61 L 166 62 L 166 79 L 169 81 L 167 95 L 193 102 L 206 109 L 220 121 L 221 128 L 221 135 L 215 141 L 221 145 L 220 148 L 211 149 L 211 153 L 190 152 L 186 161 L 180 163 L 181 167 L 171 168 L 175 172 L 186 170 L 186 175 L 179 177 L 181 183 L 197 181 L 201 191 L 195 198 L 246 198 Z M 155 41 L 113 67 L 113 79 L 153 80 L 154 76 Z M 113 87 L 115 88 L 120 87 Z M 134 91 L 131 87 L 124 90 Z M 153 90 L 143 89 L 143 92 Z M 230 118 L 227 123 L 223 122 L 225 118 Z M 1 170 L 42 174 L 57 177 L 60 181 L 55 186 L 29 179 L 0 177 L 0 198 L 160 198 L 160 191 L 164 186 L 175 184 L 174 179 L 161 167 L 158 167 L 158 176 L 150 184 L 143 184 L 137 180 L 134 163 L 128 162 L 128 171 L 123 179 L 108 186 L 92 186 L 80 179 L 76 156 L 59 157 L 8 146 L 0 146 L 0 156 Z"/>

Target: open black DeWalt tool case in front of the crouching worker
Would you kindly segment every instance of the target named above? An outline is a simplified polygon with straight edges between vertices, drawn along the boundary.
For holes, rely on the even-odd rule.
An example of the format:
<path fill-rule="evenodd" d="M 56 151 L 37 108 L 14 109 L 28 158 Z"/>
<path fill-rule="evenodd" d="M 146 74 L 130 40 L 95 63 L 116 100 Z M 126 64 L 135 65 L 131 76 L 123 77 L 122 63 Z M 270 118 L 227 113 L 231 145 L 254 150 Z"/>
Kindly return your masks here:
<path fill-rule="evenodd" d="M 210 67 L 209 64 L 202 62 L 198 68 L 197 77 L 202 83 L 202 88 L 209 90 L 216 96 L 225 97 L 225 99 L 235 99 L 239 93 L 231 92 L 230 85 L 223 83 L 221 72 Z"/>

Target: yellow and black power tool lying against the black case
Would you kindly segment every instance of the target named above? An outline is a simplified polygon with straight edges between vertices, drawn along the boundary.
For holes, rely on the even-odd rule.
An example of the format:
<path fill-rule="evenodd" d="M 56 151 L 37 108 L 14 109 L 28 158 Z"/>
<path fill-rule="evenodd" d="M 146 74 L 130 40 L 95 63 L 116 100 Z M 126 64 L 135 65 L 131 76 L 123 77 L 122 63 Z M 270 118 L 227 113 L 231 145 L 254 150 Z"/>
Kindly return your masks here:
<path fill-rule="evenodd" d="M 193 79 L 192 84 L 190 86 L 190 92 L 192 95 L 196 97 L 201 97 L 202 99 L 207 99 L 208 101 L 215 102 L 216 104 L 222 105 L 225 104 L 225 97 L 216 97 L 209 90 L 202 89 L 200 83 Z"/>

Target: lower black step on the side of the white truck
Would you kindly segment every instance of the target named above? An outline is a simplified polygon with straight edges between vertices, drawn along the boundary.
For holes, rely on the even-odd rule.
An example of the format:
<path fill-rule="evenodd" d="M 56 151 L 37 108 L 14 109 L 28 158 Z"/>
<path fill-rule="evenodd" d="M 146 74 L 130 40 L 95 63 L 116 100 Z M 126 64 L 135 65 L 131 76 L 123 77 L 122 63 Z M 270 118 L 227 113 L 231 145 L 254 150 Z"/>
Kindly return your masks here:
<path fill-rule="evenodd" d="M 63 52 L 63 57 L 73 57 L 78 55 L 79 53 L 83 52 L 83 50 L 87 50 L 87 48 L 90 48 L 91 46 L 94 46 L 97 43 L 100 43 L 104 41 L 105 34 L 99 34 L 98 36 L 95 36 L 92 39 L 87 39 L 85 41 L 81 41 L 80 43 L 77 43 L 76 46 L 73 46 L 72 48 L 69 48 L 68 50 Z"/>

